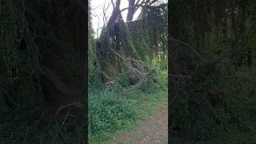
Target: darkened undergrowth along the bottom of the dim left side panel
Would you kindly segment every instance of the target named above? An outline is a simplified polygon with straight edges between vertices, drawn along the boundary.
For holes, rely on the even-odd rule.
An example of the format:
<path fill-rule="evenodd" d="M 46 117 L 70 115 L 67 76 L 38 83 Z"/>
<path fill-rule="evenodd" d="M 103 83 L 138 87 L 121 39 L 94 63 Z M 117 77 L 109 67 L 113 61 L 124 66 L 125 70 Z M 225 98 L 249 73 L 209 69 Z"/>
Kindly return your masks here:
<path fill-rule="evenodd" d="M 2 144 L 70 144 L 84 141 L 85 132 L 82 130 L 82 125 L 70 130 L 66 127 L 66 123 L 62 125 L 63 119 L 42 125 L 39 122 L 41 116 L 40 110 L 34 107 L 21 108 L 11 113 L 1 111 L 0 142 Z M 82 122 L 82 118 L 79 121 Z"/>

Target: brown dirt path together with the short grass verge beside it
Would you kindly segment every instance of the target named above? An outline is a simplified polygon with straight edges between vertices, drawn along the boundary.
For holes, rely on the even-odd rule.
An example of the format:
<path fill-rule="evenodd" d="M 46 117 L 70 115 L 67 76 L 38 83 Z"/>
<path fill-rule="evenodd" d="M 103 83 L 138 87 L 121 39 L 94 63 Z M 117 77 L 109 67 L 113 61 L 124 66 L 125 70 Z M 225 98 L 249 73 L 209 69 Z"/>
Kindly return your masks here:
<path fill-rule="evenodd" d="M 134 93 L 130 96 L 130 99 L 138 104 L 139 120 L 127 124 L 122 130 L 116 131 L 113 138 L 108 141 L 95 143 L 168 143 L 167 91 L 159 91 L 153 95 Z"/>

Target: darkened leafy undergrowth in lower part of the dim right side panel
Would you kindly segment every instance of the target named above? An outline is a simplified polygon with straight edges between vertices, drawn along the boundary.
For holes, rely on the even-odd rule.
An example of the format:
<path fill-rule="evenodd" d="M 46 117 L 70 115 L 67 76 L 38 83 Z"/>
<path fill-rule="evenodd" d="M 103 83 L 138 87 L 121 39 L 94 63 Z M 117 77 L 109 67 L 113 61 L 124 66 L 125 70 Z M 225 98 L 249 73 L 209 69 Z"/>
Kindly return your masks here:
<path fill-rule="evenodd" d="M 228 63 L 218 64 L 201 87 L 221 91 L 222 102 L 211 109 L 200 105 L 188 111 L 182 104 L 176 104 L 174 109 L 177 111 L 172 120 L 173 124 L 178 124 L 175 130 L 179 132 L 179 139 L 189 142 L 255 143 L 255 74 L 255 66 L 234 68 Z M 195 96 L 192 95 L 192 98 Z"/>

